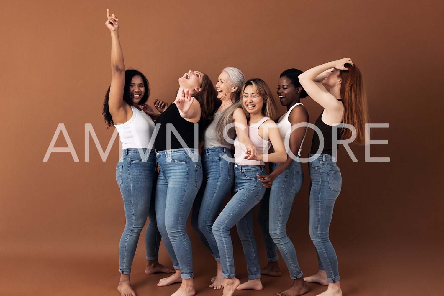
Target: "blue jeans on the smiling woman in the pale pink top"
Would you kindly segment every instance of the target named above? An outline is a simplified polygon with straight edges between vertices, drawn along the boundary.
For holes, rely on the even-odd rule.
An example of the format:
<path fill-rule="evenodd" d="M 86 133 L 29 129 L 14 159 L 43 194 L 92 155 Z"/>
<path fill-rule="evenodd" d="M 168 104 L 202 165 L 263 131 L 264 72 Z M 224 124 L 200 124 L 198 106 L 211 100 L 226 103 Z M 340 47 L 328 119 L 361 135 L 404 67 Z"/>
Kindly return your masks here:
<path fill-rule="evenodd" d="M 261 277 L 258 247 L 253 233 L 253 207 L 261 201 L 265 187 L 257 175 L 265 174 L 264 166 L 234 165 L 234 196 L 213 224 L 213 234 L 220 253 L 222 276 L 234 278 L 233 244 L 230 230 L 236 225 L 247 262 L 248 279 Z"/>

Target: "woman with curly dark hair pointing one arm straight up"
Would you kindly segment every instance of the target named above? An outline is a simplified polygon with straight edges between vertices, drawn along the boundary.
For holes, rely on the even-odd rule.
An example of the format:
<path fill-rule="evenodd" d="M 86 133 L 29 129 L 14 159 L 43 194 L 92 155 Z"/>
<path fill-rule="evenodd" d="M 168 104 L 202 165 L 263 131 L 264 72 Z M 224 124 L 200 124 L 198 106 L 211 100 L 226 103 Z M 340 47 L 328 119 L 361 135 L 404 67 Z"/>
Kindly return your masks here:
<path fill-rule="evenodd" d="M 122 141 L 123 153 L 115 169 L 115 177 L 123 197 L 126 224 L 119 244 L 120 282 L 122 296 L 135 296 L 130 272 L 140 232 L 150 216 L 145 233 L 147 274 L 174 272 L 159 264 L 160 233 L 155 221 L 155 206 L 151 205 L 151 189 L 156 170 L 151 134 L 155 123 L 139 108 L 150 95 L 145 76 L 137 70 L 125 71 L 119 41 L 119 21 L 107 10 L 107 28 L 111 31 L 111 86 L 103 103 L 103 115 L 108 128 L 114 125 Z"/>

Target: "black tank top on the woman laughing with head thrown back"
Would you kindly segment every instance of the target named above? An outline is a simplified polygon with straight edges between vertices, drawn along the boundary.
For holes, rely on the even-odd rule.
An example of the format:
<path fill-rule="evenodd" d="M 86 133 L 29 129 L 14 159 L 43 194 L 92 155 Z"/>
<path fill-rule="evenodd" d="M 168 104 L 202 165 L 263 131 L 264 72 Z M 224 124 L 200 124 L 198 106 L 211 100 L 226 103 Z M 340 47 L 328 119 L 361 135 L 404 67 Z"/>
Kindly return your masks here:
<path fill-rule="evenodd" d="M 198 142 L 200 142 L 202 138 L 203 122 L 204 121 L 202 120 L 202 116 L 200 117 L 198 123 L 189 122 L 185 118 L 182 118 L 182 116 L 180 116 L 179 109 L 176 107 L 176 104 L 172 103 L 162 114 L 160 114 L 160 116 L 156 120 L 156 125 L 157 123 L 160 123 L 159 132 L 156 136 L 156 150 L 163 151 L 167 149 L 186 148 L 179 142 L 178 138 L 174 134 L 174 128 L 177 130 L 180 137 L 182 137 L 188 148 L 198 149 L 198 146 L 194 147 L 194 124 L 198 125 Z M 168 132 L 168 134 L 170 134 L 168 136 L 171 138 L 171 147 L 166 146 L 167 123 L 172 124 L 172 126 L 174 127 L 171 127 L 170 131 Z"/>

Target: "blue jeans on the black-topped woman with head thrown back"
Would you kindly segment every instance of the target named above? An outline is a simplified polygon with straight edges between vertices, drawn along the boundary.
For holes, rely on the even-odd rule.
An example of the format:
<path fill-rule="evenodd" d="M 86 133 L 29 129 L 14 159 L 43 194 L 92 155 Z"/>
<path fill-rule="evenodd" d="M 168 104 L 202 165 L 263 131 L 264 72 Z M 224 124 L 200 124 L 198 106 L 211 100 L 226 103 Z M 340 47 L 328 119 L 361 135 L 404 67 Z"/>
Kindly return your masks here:
<path fill-rule="evenodd" d="M 190 153 L 197 155 L 196 162 Z M 185 226 L 202 184 L 202 163 L 195 149 L 156 151 L 156 156 L 160 169 L 156 186 L 157 226 L 174 269 L 180 268 L 182 279 L 189 279 L 193 277 L 193 254 Z"/>

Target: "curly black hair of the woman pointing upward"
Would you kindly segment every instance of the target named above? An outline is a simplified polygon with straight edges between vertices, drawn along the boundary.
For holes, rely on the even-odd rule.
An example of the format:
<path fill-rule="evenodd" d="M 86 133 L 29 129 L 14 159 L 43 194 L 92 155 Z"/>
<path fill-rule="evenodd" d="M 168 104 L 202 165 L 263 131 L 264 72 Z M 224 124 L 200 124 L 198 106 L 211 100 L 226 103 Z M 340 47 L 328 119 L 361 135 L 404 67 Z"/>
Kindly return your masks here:
<path fill-rule="evenodd" d="M 143 94 L 142 99 L 140 99 L 140 101 L 139 101 L 139 105 L 143 105 L 144 103 L 147 102 L 148 97 L 150 96 L 150 84 L 148 83 L 148 80 L 145 77 L 145 75 L 143 75 L 142 72 L 137 71 L 135 69 L 128 69 L 125 71 L 125 88 L 123 89 L 123 100 L 125 102 L 127 102 L 128 105 L 133 104 L 133 102 L 131 100 L 131 95 L 130 95 L 130 83 L 131 83 L 131 79 L 135 75 L 139 75 L 140 77 L 142 77 L 143 85 L 145 86 L 145 93 Z M 103 116 L 105 117 L 105 123 L 108 125 L 108 129 L 110 128 L 110 126 L 112 126 L 114 124 L 112 117 L 111 117 L 111 113 L 109 111 L 109 107 L 108 107 L 110 88 L 111 88 L 111 86 L 108 87 L 107 94 L 105 95 L 105 101 L 103 102 L 103 112 L 102 112 Z"/>

